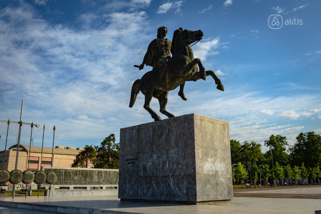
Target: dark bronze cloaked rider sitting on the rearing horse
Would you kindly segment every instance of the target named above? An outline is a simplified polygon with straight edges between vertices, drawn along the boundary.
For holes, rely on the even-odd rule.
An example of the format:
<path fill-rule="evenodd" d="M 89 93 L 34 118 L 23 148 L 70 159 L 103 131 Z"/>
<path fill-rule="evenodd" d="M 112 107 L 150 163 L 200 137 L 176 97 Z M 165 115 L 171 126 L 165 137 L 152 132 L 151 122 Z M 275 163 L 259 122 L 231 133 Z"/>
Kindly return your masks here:
<path fill-rule="evenodd" d="M 154 83 L 154 88 L 162 90 L 160 87 L 160 81 L 163 78 L 168 61 L 170 59 L 172 42 L 166 39 L 167 28 L 162 26 L 157 30 L 157 39 L 152 40 L 147 48 L 147 52 L 144 56 L 143 63 L 139 66 L 139 70 L 144 68 L 144 65 L 153 67 L 153 70 L 159 68 L 157 71 L 157 80 Z M 185 82 L 180 86 L 178 95 L 183 99 L 187 100 L 184 95 Z"/>

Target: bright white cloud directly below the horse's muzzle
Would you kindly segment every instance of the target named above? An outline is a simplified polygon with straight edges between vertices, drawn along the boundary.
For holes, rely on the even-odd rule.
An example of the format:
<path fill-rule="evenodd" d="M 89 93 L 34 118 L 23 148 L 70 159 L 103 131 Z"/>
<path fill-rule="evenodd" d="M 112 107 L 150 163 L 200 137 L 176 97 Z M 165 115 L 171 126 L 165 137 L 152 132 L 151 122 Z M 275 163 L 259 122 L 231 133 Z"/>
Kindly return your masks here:
<path fill-rule="evenodd" d="M 202 42 L 198 42 L 193 46 L 193 53 L 195 58 L 200 58 L 202 61 L 206 61 L 206 57 L 210 55 L 218 54 L 218 51 L 214 51 L 220 43 L 220 39 L 204 39 Z"/>

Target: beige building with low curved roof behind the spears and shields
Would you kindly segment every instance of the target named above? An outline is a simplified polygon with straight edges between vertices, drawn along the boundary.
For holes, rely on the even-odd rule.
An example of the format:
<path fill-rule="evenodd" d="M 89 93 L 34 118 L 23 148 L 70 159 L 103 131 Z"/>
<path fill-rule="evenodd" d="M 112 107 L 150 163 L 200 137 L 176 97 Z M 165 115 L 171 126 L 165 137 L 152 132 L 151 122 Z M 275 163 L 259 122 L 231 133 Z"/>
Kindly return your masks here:
<path fill-rule="evenodd" d="M 5 158 L 4 151 L 0 151 L 0 168 L 8 170 L 9 172 L 15 168 L 17 146 L 13 145 L 6 150 Z M 54 148 L 53 167 L 71 167 L 74 163 L 76 155 L 84 150 L 83 148 L 56 146 Z M 30 155 L 30 158 L 29 158 Z M 41 147 L 40 146 L 29 146 L 20 144 L 18 154 L 18 165 L 17 169 L 24 171 L 29 169 L 31 171 L 40 170 L 40 158 L 41 158 Z M 4 159 L 4 162 L 3 162 Z M 27 160 L 29 160 L 27 162 Z M 41 166 L 50 167 L 52 161 L 52 148 L 43 147 Z"/>

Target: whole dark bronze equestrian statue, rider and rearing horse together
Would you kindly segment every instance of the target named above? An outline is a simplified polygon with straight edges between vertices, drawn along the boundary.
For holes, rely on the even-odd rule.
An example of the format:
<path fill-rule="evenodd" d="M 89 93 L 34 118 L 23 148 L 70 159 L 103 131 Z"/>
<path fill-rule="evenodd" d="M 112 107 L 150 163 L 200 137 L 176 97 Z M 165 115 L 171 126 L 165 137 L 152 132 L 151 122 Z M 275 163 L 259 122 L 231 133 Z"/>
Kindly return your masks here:
<path fill-rule="evenodd" d="M 217 85 L 216 88 L 224 91 L 223 84 L 216 74 L 212 70 L 205 71 L 201 60 L 194 58 L 190 44 L 202 39 L 204 33 L 201 30 L 179 28 L 174 31 L 173 42 L 165 38 L 166 34 L 167 28 L 160 27 L 157 39 L 154 39 L 148 46 L 143 63 L 134 65 L 143 69 L 144 64 L 147 64 L 152 66 L 153 70 L 145 73 L 141 79 L 134 81 L 129 102 L 129 107 L 133 107 L 137 94 L 141 91 L 145 95 L 144 109 L 155 121 L 161 120 L 161 118 L 150 107 L 152 98 L 158 99 L 162 114 L 174 117 L 166 110 L 168 93 L 180 86 L 178 95 L 184 99 L 182 88 L 185 81 L 206 80 L 207 76 L 211 76 Z M 172 53 L 171 58 L 170 53 Z"/>

